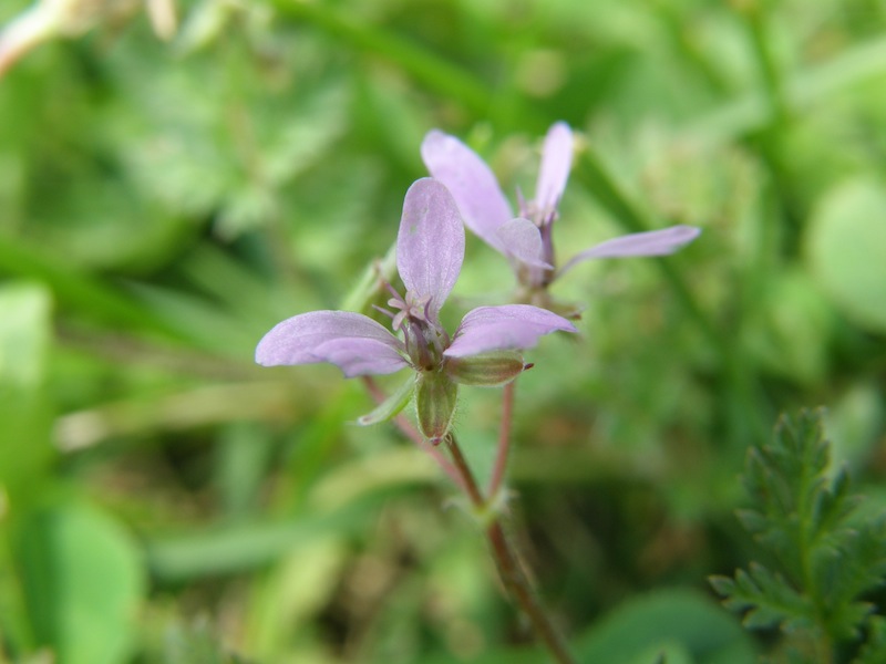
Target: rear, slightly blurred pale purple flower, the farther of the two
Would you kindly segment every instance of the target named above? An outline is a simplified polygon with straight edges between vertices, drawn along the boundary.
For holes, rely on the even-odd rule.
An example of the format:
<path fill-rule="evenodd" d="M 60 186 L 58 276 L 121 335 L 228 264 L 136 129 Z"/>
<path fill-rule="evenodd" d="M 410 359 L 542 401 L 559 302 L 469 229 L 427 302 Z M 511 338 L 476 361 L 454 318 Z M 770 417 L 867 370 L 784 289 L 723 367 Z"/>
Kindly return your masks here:
<path fill-rule="evenodd" d="M 573 163 L 573 133 L 566 123 L 558 122 L 548 131 L 535 198 L 525 200 L 517 193 L 518 216 L 486 163 L 454 136 L 432 129 L 424 137 L 421 152 L 431 176 L 452 193 L 465 225 L 509 259 L 523 295 L 529 301 L 548 302 L 546 289 L 579 262 L 594 258 L 663 256 L 701 232 L 679 225 L 622 236 L 578 252 L 558 269 L 552 229 Z"/>

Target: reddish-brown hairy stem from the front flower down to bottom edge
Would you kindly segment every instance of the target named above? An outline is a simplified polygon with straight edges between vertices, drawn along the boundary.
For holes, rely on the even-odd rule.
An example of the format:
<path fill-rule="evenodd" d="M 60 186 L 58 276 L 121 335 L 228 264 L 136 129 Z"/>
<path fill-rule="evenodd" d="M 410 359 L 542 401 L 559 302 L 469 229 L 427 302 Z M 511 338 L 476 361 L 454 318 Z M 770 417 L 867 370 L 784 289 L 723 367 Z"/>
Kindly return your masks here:
<path fill-rule="evenodd" d="M 512 395 L 513 396 L 513 395 Z M 471 471 L 467 460 L 464 458 L 459 444 L 453 435 L 446 437 L 455 469 L 461 475 L 465 487 L 465 492 L 471 499 L 471 504 L 480 513 L 487 511 L 487 502 L 480 491 L 474 475 Z M 529 622 L 533 625 L 535 635 L 547 647 L 552 656 L 558 664 L 576 664 L 575 658 L 566 646 L 566 640 L 550 621 L 540 598 L 533 590 L 529 579 L 524 571 L 523 564 L 514 550 L 513 543 L 507 539 L 502 527 L 501 517 L 491 512 L 486 525 L 486 539 L 492 548 L 495 564 L 498 568 L 498 575 L 507 589 L 512 600 L 519 604 Z"/>

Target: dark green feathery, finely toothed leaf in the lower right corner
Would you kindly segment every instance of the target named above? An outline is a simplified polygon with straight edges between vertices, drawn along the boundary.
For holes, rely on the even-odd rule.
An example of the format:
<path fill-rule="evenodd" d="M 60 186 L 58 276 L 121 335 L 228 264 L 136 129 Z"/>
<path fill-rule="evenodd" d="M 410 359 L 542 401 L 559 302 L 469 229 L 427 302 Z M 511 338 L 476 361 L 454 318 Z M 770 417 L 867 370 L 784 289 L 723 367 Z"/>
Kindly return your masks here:
<path fill-rule="evenodd" d="M 822 414 L 782 417 L 773 443 L 749 453 L 753 504 L 739 515 L 774 569 L 752 562 L 712 579 L 748 627 L 779 626 L 818 662 L 839 661 L 847 642 L 864 644 L 861 662 L 883 652 L 883 618 L 867 598 L 886 577 L 886 512 L 862 512 L 849 485 L 831 466 Z"/>

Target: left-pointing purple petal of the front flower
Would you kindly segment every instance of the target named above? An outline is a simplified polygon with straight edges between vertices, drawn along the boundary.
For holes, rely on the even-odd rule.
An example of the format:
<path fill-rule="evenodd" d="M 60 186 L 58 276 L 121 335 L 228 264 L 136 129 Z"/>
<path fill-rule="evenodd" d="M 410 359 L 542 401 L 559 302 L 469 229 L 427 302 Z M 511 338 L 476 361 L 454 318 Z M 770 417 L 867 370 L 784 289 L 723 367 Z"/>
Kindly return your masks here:
<path fill-rule="evenodd" d="M 256 347 L 264 366 L 329 362 L 348 377 L 408 366 L 403 343 L 370 318 L 350 311 L 311 311 L 278 323 Z"/>

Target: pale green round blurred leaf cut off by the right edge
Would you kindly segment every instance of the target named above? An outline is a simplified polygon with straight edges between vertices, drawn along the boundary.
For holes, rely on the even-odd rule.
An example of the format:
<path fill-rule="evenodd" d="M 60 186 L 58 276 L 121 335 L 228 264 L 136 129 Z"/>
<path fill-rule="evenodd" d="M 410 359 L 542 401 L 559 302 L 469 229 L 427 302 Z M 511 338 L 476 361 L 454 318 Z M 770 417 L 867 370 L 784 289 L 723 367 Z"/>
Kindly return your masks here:
<path fill-rule="evenodd" d="M 815 279 L 846 315 L 886 330 L 886 189 L 854 179 L 813 214 L 806 247 Z"/>

